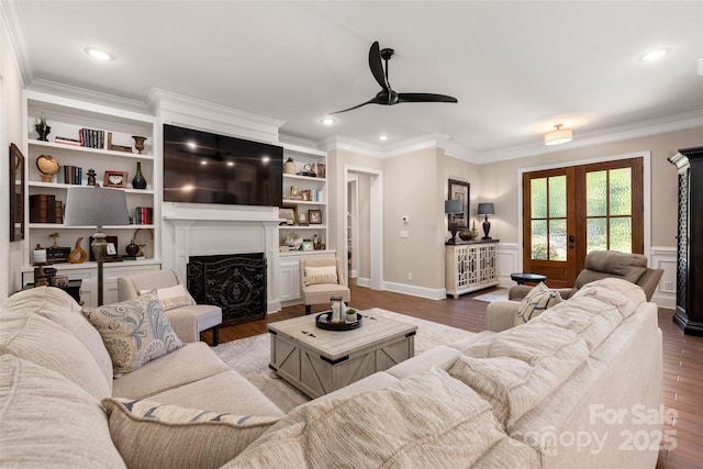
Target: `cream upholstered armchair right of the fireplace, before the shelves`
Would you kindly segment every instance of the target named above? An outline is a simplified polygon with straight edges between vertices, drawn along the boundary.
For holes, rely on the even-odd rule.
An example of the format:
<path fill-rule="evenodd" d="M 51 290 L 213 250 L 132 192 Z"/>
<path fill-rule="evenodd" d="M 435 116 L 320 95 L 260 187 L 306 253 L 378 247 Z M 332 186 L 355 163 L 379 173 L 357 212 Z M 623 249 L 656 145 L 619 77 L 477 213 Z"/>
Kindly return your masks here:
<path fill-rule="evenodd" d="M 300 259 L 300 289 L 305 302 L 305 314 L 313 304 L 330 304 L 332 298 L 342 298 L 348 303 L 352 293 L 344 284 L 342 260 L 336 257 L 303 257 Z"/>

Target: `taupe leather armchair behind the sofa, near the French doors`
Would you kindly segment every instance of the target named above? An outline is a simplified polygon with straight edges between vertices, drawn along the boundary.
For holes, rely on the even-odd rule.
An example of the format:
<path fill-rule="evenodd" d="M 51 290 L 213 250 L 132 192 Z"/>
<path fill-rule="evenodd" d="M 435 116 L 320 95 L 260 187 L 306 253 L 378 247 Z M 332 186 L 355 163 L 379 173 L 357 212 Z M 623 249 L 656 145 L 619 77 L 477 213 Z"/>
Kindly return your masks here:
<path fill-rule="evenodd" d="M 557 291 L 563 300 L 567 300 L 585 283 L 615 277 L 641 287 L 647 301 L 650 301 L 662 275 L 663 269 L 647 267 L 647 256 L 643 254 L 592 250 L 585 256 L 584 269 L 577 277 L 573 288 L 557 289 Z M 529 286 L 513 287 L 510 289 L 507 298 L 509 300 L 521 301 L 532 288 Z"/>

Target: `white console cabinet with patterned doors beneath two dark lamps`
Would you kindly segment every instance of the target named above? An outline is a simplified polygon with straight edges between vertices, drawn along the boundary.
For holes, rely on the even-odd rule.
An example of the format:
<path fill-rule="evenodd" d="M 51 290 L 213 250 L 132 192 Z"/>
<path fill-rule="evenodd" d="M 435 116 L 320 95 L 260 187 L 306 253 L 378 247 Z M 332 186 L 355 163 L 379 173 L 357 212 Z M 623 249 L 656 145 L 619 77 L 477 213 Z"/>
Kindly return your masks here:
<path fill-rule="evenodd" d="M 447 294 L 460 294 L 496 286 L 498 242 L 468 241 L 446 245 L 445 287 Z"/>

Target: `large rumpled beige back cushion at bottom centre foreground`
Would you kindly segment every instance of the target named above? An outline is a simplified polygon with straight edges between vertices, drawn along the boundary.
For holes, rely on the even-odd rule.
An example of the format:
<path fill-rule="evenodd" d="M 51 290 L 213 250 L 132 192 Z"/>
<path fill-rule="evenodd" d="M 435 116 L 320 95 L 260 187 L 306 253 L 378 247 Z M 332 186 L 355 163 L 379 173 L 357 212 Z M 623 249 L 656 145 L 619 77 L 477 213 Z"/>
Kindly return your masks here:
<path fill-rule="evenodd" d="M 224 467 L 469 467 L 506 438 L 488 402 L 434 368 L 300 405 Z"/>

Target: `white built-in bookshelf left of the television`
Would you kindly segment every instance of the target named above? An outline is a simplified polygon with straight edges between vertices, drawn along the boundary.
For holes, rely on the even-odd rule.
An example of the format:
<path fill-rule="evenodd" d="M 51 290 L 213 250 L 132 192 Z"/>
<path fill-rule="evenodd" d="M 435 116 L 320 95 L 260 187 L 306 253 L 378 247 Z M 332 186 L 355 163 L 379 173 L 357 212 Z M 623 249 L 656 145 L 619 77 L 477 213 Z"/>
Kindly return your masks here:
<path fill-rule="evenodd" d="M 131 225 L 104 226 L 113 239 L 118 256 L 137 236 L 144 244 L 144 258 L 110 263 L 105 268 L 105 301 L 116 300 L 116 287 L 110 276 L 120 277 L 141 269 L 159 268 L 159 208 L 156 203 L 156 119 L 153 115 L 90 103 L 51 93 L 25 90 L 23 96 L 25 155 L 25 224 L 23 283 L 33 281 L 33 256 L 36 245 L 45 248 L 80 247 L 90 252 L 94 226 L 66 226 L 63 213 L 67 190 L 71 186 L 113 187 L 126 193 Z M 40 124 L 40 129 L 37 129 Z M 42 135 L 44 127 L 51 131 Z M 45 139 L 41 139 L 45 137 Z M 137 138 L 135 138 L 137 137 Z M 144 147 L 136 143 L 145 137 Z M 38 160 L 38 161 L 37 161 Z M 146 179 L 145 189 L 135 189 L 132 180 L 137 166 Z M 44 206 L 38 206 L 38 203 Z M 49 204 L 52 206 L 49 208 Z M 81 298 L 90 303 L 94 289 L 94 263 L 57 261 L 52 265 L 71 279 L 82 279 Z M 114 291 L 113 291 L 114 290 Z"/>

